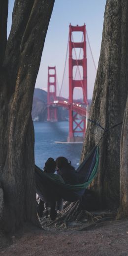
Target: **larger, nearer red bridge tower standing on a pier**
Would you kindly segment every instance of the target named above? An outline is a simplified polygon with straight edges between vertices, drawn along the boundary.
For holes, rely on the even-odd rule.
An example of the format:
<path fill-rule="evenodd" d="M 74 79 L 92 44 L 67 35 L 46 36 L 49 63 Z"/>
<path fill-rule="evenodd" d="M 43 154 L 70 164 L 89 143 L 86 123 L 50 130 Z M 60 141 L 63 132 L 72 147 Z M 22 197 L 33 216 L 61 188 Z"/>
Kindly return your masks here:
<path fill-rule="evenodd" d="M 72 32 L 83 32 L 82 42 L 74 42 Z M 83 49 L 83 59 L 77 59 L 75 48 Z M 72 58 L 72 50 L 75 51 L 75 59 Z M 75 80 L 73 77 L 73 66 L 77 66 L 80 79 Z M 83 77 L 81 77 L 80 68 L 83 68 Z M 75 87 L 82 88 L 83 104 L 86 108 L 87 101 L 87 55 L 86 55 L 86 26 L 71 26 L 69 25 L 69 134 L 68 142 L 82 141 L 86 130 L 86 118 L 79 119 L 78 113 L 73 111 L 73 90 Z M 79 104 L 78 104 L 79 105 Z M 80 105 L 79 105 L 80 106 Z M 75 136 L 82 134 L 82 136 Z"/>

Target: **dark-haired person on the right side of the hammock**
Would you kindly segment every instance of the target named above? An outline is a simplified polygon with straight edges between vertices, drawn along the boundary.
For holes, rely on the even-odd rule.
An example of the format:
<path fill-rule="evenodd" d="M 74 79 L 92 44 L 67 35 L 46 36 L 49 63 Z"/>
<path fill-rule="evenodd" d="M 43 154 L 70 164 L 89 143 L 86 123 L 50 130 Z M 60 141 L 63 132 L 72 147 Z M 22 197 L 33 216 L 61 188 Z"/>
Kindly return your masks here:
<path fill-rule="evenodd" d="M 57 173 L 60 174 L 66 184 L 76 185 L 79 184 L 78 173 L 71 165 L 71 162 L 64 157 L 56 159 Z"/>

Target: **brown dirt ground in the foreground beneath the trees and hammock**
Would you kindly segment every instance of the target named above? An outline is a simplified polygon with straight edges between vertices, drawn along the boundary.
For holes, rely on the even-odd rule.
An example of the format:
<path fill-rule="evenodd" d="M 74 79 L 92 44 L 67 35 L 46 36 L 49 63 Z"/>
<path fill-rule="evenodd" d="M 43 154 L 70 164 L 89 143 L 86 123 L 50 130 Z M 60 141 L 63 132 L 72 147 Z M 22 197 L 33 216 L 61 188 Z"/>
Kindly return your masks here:
<path fill-rule="evenodd" d="M 0 234 L 0 255 L 3 256 L 128 256 L 128 220 L 106 221 L 87 226 L 70 223 L 64 230 L 48 227 L 25 227 L 10 238 Z"/>

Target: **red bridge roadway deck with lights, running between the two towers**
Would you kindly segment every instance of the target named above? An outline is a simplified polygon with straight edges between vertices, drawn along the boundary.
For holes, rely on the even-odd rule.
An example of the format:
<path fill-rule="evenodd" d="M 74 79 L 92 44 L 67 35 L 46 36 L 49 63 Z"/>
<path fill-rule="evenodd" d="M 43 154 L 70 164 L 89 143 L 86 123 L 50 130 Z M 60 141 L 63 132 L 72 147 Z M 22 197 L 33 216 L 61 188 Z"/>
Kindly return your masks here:
<path fill-rule="evenodd" d="M 66 101 L 66 100 L 64 100 L 64 101 L 54 100 L 53 102 L 50 102 L 48 104 L 48 106 L 53 106 L 53 107 L 61 106 L 61 107 L 67 108 L 67 109 L 70 108 L 72 111 L 75 111 L 79 115 L 85 116 L 85 117 L 86 117 L 86 113 L 87 113 L 86 108 L 83 108 L 80 103 L 69 104 L 68 101 Z"/>

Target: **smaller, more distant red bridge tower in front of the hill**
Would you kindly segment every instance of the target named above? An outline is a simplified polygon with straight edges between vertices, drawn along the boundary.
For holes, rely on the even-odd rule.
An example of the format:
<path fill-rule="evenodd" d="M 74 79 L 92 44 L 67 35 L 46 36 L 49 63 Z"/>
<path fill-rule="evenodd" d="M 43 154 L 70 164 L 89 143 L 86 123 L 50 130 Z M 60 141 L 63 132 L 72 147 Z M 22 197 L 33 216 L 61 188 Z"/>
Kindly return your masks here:
<path fill-rule="evenodd" d="M 57 107 L 51 104 L 57 99 L 56 66 L 48 66 L 48 116 L 47 121 L 57 122 Z"/>

